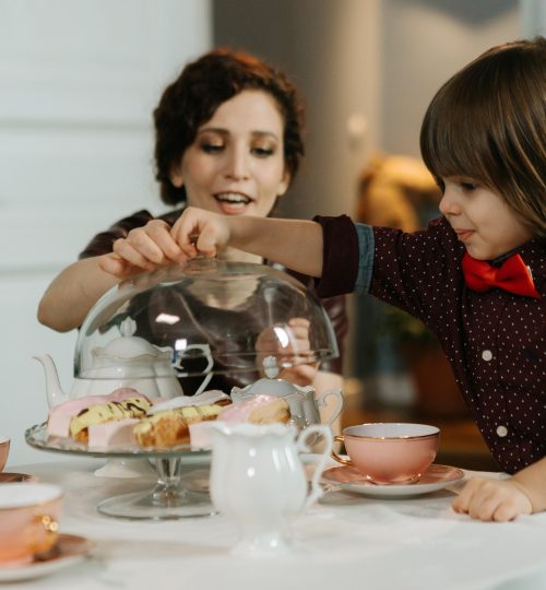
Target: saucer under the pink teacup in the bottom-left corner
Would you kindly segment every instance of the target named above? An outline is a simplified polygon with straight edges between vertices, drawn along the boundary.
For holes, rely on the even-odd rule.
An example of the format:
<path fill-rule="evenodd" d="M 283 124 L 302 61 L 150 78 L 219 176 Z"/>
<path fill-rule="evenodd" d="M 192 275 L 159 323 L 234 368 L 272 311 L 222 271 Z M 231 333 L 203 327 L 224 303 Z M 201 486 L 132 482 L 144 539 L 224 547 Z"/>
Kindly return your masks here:
<path fill-rule="evenodd" d="M 75 534 L 59 534 L 57 551 L 47 558 L 14 567 L 0 567 L 0 582 L 32 580 L 80 562 L 90 552 L 91 541 Z"/>

